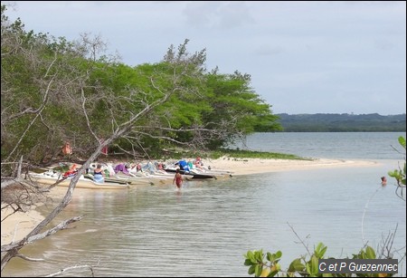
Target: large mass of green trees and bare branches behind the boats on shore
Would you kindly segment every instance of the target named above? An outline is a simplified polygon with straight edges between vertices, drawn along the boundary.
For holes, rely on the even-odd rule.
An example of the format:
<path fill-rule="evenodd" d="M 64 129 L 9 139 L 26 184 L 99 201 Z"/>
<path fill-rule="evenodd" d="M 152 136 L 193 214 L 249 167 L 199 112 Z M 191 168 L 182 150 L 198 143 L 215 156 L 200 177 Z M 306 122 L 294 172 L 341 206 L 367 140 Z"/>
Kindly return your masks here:
<path fill-rule="evenodd" d="M 188 40 L 161 62 L 130 67 L 99 55 L 98 40 L 27 32 L 5 12 L 2 5 L 2 162 L 58 160 L 65 141 L 87 158 L 112 134 L 110 149 L 136 157 L 217 149 L 280 129 L 249 74 L 206 72 L 206 50 L 188 53 Z"/>

